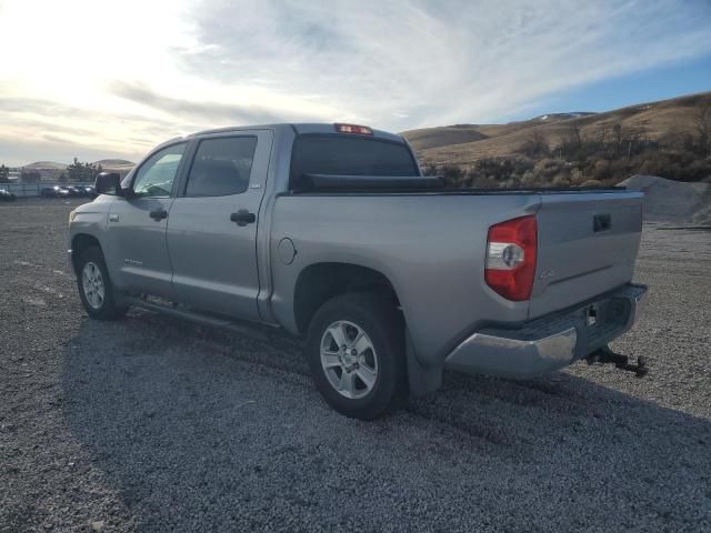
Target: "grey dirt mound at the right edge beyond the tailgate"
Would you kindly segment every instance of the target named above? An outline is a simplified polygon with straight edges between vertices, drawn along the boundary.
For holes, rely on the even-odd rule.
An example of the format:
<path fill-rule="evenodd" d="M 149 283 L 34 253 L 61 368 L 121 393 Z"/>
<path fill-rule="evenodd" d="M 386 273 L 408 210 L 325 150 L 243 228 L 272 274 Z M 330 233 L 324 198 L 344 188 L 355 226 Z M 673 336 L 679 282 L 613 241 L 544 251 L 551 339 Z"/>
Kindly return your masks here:
<path fill-rule="evenodd" d="M 691 184 L 635 174 L 620 185 L 644 192 L 644 220 L 711 224 L 711 187 L 708 183 Z"/>

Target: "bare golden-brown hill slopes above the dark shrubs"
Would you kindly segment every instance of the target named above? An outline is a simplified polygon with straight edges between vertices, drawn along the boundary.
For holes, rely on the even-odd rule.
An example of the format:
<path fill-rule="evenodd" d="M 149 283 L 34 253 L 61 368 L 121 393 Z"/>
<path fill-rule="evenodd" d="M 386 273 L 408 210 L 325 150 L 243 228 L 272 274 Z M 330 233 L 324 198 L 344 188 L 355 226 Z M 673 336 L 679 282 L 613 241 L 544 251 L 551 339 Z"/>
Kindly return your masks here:
<path fill-rule="evenodd" d="M 694 129 L 694 109 L 711 92 L 641 103 L 602 113 L 549 113 L 508 124 L 462 124 L 405 131 L 423 162 L 471 164 L 483 158 L 507 158 L 521 153 L 534 135 L 551 149 L 562 137 L 579 128 L 583 137 L 594 137 L 615 124 L 637 130 L 651 141 L 671 142 Z"/>

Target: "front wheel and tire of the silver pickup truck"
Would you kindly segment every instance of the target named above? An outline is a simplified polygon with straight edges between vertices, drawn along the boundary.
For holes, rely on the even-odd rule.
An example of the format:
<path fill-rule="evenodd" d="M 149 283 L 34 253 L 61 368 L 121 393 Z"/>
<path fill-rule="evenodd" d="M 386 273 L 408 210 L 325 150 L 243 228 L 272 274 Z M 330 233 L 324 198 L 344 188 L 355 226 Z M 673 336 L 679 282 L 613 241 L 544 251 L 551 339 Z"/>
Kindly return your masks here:
<path fill-rule="evenodd" d="M 97 247 L 81 252 L 77 261 L 79 298 L 92 319 L 117 320 L 126 315 L 128 306 L 117 305 L 103 253 Z"/>

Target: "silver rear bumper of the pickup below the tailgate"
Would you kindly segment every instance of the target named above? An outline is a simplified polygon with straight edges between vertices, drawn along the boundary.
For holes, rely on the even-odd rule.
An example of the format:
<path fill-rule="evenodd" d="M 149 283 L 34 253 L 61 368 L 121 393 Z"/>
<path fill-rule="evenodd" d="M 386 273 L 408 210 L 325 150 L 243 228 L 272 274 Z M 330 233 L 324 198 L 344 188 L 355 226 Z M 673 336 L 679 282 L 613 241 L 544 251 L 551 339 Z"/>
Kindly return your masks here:
<path fill-rule="evenodd" d="M 630 330 L 645 295 L 645 285 L 628 284 L 519 328 L 482 329 L 452 350 L 444 364 L 461 372 L 519 380 L 554 372 Z"/>

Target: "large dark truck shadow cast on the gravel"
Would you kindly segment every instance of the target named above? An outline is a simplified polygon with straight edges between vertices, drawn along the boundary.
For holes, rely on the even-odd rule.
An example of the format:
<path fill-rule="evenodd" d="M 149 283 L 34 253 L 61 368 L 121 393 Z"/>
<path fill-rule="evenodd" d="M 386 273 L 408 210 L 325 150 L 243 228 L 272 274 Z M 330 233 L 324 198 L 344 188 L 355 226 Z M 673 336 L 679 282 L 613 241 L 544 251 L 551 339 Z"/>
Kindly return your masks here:
<path fill-rule="evenodd" d="M 699 530 L 711 513 L 709 421 L 565 373 L 448 374 L 364 423 L 264 328 L 132 312 L 84 321 L 63 359 L 72 431 L 150 531 Z M 334 504 L 353 499 L 365 514 Z"/>

